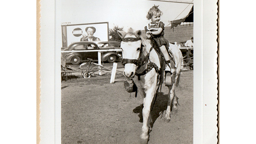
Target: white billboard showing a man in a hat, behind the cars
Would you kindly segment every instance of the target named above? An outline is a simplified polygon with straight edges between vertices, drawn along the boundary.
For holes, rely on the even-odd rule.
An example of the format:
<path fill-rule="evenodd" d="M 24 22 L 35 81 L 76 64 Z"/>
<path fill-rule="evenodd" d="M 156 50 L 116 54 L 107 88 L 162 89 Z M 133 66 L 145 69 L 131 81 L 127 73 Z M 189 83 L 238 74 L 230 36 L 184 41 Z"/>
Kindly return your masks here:
<path fill-rule="evenodd" d="M 109 23 L 62 25 L 62 33 L 63 47 L 79 41 L 108 41 Z"/>

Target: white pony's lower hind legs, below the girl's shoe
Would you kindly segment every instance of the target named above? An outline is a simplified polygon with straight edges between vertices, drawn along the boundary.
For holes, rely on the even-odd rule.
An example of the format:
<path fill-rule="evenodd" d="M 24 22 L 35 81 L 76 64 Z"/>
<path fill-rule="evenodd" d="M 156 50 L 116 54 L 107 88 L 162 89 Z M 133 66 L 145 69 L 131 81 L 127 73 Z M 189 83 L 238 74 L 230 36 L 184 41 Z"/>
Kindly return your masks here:
<path fill-rule="evenodd" d="M 170 116 L 171 115 L 171 107 L 173 106 L 173 110 L 177 111 L 177 100 L 175 98 L 176 96 L 175 96 L 175 92 L 174 92 L 175 84 L 173 84 L 172 86 L 168 86 L 168 88 L 169 88 L 168 105 L 167 105 L 165 117 L 167 120 L 171 120 L 171 116 Z"/>

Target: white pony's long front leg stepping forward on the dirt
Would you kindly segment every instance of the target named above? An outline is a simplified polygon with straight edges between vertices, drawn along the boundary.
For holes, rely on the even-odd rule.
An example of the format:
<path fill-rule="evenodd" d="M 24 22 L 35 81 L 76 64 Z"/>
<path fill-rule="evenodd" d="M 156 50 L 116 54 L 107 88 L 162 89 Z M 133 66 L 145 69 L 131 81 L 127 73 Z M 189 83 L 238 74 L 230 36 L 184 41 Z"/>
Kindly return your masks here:
<path fill-rule="evenodd" d="M 149 138 L 149 131 L 151 128 L 151 117 L 150 117 L 150 106 L 153 100 L 153 97 L 155 95 L 155 89 L 150 88 L 146 92 L 146 97 L 143 98 L 143 125 L 142 125 L 142 134 L 141 134 L 141 143 L 147 144 L 148 138 Z"/>

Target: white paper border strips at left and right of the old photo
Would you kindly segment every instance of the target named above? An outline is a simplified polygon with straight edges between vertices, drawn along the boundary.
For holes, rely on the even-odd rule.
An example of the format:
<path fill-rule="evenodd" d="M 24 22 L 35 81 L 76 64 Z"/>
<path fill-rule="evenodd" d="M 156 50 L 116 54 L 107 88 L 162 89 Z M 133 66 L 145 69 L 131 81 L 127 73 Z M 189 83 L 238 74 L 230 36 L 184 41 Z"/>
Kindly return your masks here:
<path fill-rule="evenodd" d="M 217 143 L 217 1 L 194 1 L 194 144 Z M 203 8 L 202 8 L 203 6 Z M 60 144 L 60 56 L 54 50 L 55 2 L 41 1 L 41 144 Z M 203 42 L 203 43 L 202 43 Z M 50 47 L 50 48 L 49 48 Z M 54 61 L 55 60 L 55 61 Z M 203 60 L 203 61 L 202 61 Z M 52 62 L 55 63 L 52 63 Z M 60 71 L 60 66 L 56 69 Z M 202 85 L 203 84 L 203 85 Z M 203 97 L 200 97 L 202 96 Z"/>

